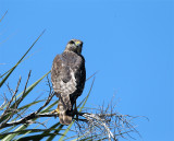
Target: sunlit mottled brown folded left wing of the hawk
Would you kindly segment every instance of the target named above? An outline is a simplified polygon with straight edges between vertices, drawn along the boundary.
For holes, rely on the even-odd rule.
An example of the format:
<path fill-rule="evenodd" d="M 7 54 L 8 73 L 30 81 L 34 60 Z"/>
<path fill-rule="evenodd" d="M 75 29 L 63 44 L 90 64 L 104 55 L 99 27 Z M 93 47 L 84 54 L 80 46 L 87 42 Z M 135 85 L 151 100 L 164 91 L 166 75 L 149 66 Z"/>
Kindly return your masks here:
<path fill-rule="evenodd" d="M 57 55 L 54 58 L 51 69 L 51 81 L 57 96 L 59 96 L 58 94 L 69 95 L 75 92 L 76 81 L 72 66 L 73 63 L 64 55 Z"/>

